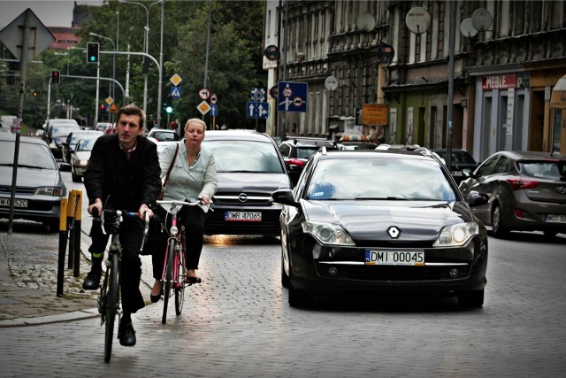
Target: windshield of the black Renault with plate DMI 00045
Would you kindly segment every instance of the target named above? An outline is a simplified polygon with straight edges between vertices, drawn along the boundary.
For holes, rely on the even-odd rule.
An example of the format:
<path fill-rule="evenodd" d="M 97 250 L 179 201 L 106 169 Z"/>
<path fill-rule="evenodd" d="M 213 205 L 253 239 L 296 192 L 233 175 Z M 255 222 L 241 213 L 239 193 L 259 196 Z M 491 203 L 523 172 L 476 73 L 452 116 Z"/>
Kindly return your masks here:
<path fill-rule="evenodd" d="M 318 162 L 308 199 L 455 201 L 438 163 L 409 158 L 342 158 Z"/>

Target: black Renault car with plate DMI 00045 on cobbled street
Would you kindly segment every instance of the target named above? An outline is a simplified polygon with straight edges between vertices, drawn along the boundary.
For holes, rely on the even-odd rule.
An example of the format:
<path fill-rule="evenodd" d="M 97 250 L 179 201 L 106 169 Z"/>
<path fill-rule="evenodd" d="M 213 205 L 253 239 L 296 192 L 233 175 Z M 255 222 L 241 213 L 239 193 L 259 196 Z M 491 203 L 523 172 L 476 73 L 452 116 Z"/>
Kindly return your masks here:
<path fill-rule="evenodd" d="M 407 180 L 407 178 L 410 180 Z M 279 189 L 281 283 L 290 305 L 335 292 L 421 292 L 484 303 L 486 228 L 438 158 L 321 150 Z"/>

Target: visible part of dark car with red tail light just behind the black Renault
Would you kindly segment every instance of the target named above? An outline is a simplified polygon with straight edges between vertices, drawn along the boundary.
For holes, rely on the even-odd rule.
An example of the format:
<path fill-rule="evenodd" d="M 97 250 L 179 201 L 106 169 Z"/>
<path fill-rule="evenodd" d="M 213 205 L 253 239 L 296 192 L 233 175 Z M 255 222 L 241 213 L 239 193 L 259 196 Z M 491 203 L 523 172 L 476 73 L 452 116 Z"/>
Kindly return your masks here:
<path fill-rule="evenodd" d="M 338 148 L 336 143 L 325 139 L 293 138 L 279 143 L 279 151 L 285 159 L 287 172 L 293 184 L 296 184 L 299 180 L 299 176 L 301 176 L 302 169 L 307 164 L 307 160 L 322 146 L 329 149 Z"/>

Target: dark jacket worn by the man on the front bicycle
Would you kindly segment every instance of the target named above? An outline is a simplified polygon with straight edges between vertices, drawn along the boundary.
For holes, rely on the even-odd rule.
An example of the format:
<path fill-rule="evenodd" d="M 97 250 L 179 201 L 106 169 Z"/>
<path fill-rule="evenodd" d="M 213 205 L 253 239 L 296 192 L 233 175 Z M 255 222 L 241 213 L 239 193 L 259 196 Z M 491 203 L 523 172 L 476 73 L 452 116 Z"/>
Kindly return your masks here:
<path fill-rule="evenodd" d="M 157 145 L 145 136 L 137 137 L 131 158 L 119 146 L 118 134 L 100 136 L 93 147 L 85 172 L 85 188 L 92 203 L 111 195 L 117 210 L 137 212 L 142 204 L 153 207 L 161 191 L 161 168 Z"/>

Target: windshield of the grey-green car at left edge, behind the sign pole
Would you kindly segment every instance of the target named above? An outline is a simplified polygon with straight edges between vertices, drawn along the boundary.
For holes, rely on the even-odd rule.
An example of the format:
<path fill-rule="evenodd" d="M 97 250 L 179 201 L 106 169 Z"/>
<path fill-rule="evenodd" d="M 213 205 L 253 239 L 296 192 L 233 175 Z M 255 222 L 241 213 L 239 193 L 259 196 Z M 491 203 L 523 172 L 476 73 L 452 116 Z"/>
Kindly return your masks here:
<path fill-rule="evenodd" d="M 0 141 L 0 165 L 12 166 L 14 163 L 12 141 Z M 37 169 L 57 169 L 51 151 L 43 144 L 19 143 L 18 166 Z"/>

